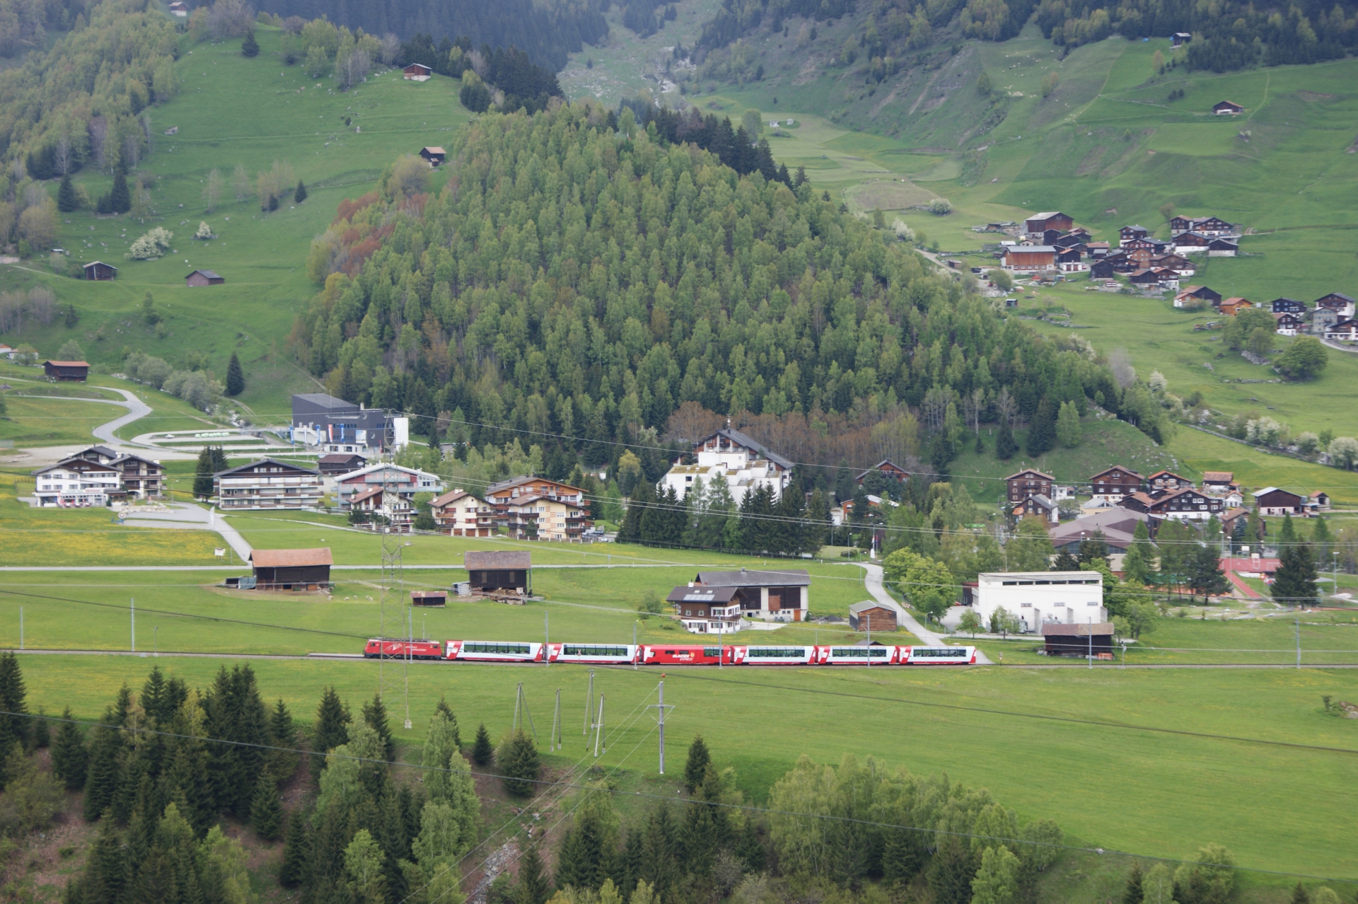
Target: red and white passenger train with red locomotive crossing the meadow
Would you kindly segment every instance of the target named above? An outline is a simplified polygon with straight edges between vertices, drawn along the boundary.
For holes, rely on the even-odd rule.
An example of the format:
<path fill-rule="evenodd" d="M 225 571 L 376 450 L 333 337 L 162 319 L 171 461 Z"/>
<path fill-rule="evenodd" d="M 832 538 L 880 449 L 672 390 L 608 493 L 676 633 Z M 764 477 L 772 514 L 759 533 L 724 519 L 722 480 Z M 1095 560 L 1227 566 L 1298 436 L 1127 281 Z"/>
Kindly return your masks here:
<path fill-rule="evenodd" d="M 703 646 L 686 643 L 535 643 L 524 641 L 368 641 L 375 658 L 593 665 L 975 665 L 974 646 Z"/>

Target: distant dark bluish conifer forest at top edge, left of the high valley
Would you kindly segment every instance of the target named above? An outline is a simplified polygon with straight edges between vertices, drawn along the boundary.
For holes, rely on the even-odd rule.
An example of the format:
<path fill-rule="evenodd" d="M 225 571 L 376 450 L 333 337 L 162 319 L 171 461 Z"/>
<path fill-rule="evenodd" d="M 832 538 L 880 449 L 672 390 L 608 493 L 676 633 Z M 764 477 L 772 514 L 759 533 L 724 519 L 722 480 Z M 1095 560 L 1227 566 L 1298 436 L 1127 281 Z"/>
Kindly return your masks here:
<path fill-rule="evenodd" d="M 534 62 L 553 72 L 565 68 L 568 53 L 587 43 L 599 43 L 608 34 L 598 0 L 555 0 L 550 4 L 534 0 L 274 0 L 269 8 L 282 16 L 326 16 L 350 30 L 392 33 L 406 39 L 417 34 L 467 35 L 475 46 L 519 48 Z"/>

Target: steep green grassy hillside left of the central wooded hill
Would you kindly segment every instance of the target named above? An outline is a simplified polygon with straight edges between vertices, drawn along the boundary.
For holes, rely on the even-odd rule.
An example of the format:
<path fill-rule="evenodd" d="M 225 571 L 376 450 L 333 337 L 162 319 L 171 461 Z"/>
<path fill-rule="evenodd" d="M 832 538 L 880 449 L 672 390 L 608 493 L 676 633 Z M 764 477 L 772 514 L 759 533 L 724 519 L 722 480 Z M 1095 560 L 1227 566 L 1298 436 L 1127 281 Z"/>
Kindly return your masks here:
<path fill-rule="evenodd" d="M 145 221 L 91 210 L 62 216 L 61 243 L 71 259 L 113 263 L 120 267 L 118 280 L 71 280 L 53 274 L 42 259 L 0 267 L 0 288 L 42 282 L 60 304 L 72 303 L 80 312 L 72 330 L 58 319 L 48 328 L 7 334 L 7 342 L 30 342 L 43 354 L 56 354 L 75 338 L 96 364 L 121 361 L 124 347 L 171 364 L 202 353 L 219 379 L 236 350 L 247 380 L 242 400 L 261 413 L 285 411 L 288 391 L 315 387 L 284 354 L 293 315 L 315 292 L 306 276 L 311 238 L 326 228 L 342 198 L 371 190 L 398 155 L 445 143 L 448 130 L 470 114 L 458 102 L 459 81 L 439 76 L 416 83 L 387 72 L 342 94 L 330 77 L 307 79 L 300 65 L 285 67 L 280 34 L 258 29 L 261 53 L 251 60 L 240 56 L 239 39 L 182 39 L 175 64 L 179 94 L 149 109 L 156 145 L 140 166 L 156 175 L 155 216 Z M 344 125 L 344 117 L 350 117 L 352 126 Z M 178 133 L 163 134 L 170 128 Z M 254 178 L 276 160 L 304 181 L 308 197 L 293 205 L 289 194 L 277 212 L 266 214 L 254 194 Z M 251 176 L 250 194 L 239 202 L 232 191 L 236 164 Z M 221 172 L 224 190 L 209 214 L 202 190 L 213 168 Z M 96 197 L 109 190 L 111 178 L 88 168 L 76 183 Z M 437 174 L 433 185 L 441 185 Z M 48 189 L 54 197 L 57 183 Z M 193 239 L 202 220 L 216 239 Z M 159 261 L 125 259 L 128 246 L 155 225 L 174 232 L 174 250 Z M 219 271 L 225 285 L 185 288 L 185 274 L 198 267 Z M 163 316 L 159 330 L 140 316 L 147 292 Z"/>

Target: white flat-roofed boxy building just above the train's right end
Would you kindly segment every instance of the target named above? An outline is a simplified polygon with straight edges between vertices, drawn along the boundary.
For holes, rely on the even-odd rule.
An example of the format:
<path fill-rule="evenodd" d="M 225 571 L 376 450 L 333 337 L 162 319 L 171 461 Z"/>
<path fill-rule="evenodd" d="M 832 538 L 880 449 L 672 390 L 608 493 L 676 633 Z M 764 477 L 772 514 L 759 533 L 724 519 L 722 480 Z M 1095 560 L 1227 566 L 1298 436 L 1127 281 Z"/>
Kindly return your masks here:
<path fill-rule="evenodd" d="M 1095 624 L 1108 620 L 1103 607 L 1103 576 L 1099 571 L 993 571 L 976 577 L 972 611 L 982 624 L 998 609 L 1016 615 L 1020 630 L 1035 633 L 1043 624 Z"/>

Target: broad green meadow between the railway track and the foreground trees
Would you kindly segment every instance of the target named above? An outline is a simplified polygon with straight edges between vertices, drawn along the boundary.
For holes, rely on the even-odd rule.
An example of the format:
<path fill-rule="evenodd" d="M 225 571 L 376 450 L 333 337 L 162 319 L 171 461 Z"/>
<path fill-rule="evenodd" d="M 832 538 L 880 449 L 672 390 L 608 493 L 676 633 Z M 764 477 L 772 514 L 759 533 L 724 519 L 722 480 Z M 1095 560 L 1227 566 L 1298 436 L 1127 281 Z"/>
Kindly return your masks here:
<path fill-rule="evenodd" d="M 220 666 L 185 658 L 159 664 L 196 685 Z M 83 717 L 96 717 L 120 683 L 140 684 L 149 666 L 128 657 L 23 657 L 30 707 L 69 704 Z M 251 666 L 265 696 L 281 696 L 301 717 L 327 684 L 354 709 L 378 684 L 369 662 Z M 655 702 L 657 673 L 595 672 L 608 721 L 619 730 L 602 761 L 653 772 L 653 722 L 638 707 Z M 551 761 L 565 764 L 584 752 L 572 726 L 581 719 L 587 675 L 573 666 L 416 665 L 411 719 L 422 726 L 445 695 L 463 726 L 485 721 L 498 736 L 509 728 L 515 687 L 523 683 L 542 737 L 561 688 L 566 749 Z M 989 787 L 1023 818 L 1052 817 L 1081 843 L 1180 856 L 1214 840 L 1243 866 L 1354 875 L 1358 859 L 1347 835 L 1316 831 L 1347 824 L 1351 755 L 1031 717 L 1358 749 L 1358 726 L 1320 711 L 1321 694 L 1353 699 L 1355 691 L 1351 671 L 672 669 L 665 702 L 676 704 L 668 718 L 671 764 L 701 732 L 755 799 L 765 799 L 800 753 L 838 761 L 854 752 Z M 394 725 L 405 738 L 420 733 L 402 732 L 399 718 Z"/>

